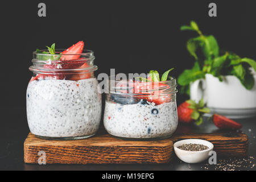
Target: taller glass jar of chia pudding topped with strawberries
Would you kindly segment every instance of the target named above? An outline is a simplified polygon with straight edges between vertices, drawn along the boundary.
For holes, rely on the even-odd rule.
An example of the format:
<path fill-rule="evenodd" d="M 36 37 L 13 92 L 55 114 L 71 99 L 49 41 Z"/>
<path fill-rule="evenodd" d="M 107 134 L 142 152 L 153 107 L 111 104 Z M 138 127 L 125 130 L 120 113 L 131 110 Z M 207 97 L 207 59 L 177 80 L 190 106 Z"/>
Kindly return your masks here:
<path fill-rule="evenodd" d="M 101 94 L 94 77 L 98 67 L 93 64 L 93 51 L 61 56 L 62 51 L 33 52 L 26 96 L 28 126 L 39 138 L 87 138 L 100 126 Z"/>

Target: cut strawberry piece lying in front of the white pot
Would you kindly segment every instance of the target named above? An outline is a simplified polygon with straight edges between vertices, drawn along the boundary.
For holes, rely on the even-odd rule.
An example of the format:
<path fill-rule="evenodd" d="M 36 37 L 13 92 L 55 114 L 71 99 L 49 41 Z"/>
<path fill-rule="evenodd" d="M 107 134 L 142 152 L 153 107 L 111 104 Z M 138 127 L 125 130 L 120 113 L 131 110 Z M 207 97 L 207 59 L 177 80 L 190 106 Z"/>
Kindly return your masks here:
<path fill-rule="evenodd" d="M 238 130 L 241 129 L 242 125 L 233 121 L 232 119 L 226 118 L 222 115 L 213 114 L 213 122 L 219 129 L 233 129 Z"/>

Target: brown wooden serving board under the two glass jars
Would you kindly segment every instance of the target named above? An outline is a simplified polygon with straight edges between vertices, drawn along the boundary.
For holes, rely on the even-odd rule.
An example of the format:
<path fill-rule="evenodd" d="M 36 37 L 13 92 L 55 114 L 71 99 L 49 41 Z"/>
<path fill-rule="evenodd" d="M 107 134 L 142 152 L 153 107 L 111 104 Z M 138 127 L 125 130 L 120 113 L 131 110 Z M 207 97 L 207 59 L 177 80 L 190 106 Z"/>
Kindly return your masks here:
<path fill-rule="evenodd" d="M 81 140 L 46 140 L 30 133 L 24 142 L 24 162 L 38 163 L 38 152 L 44 151 L 47 164 L 169 163 L 175 156 L 173 143 L 189 138 L 212 142 L 218 156 L 247 155 L 248 138 L 242 133 L 174 134 L 156 141 L 122 140 L 105 132 Z"/>

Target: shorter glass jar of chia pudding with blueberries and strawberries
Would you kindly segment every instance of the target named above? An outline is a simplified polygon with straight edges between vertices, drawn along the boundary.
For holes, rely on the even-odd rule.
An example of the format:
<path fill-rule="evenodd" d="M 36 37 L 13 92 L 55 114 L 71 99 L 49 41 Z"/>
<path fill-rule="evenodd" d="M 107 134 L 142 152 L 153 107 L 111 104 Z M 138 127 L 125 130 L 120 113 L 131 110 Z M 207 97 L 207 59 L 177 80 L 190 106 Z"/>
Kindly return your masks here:
<path fill-rule="evenodd" d="M 112 80 L 106 94 L 104 126 L 114 137 L 152 140 L 171 137 L 177 128 L 176 80 Z"/>

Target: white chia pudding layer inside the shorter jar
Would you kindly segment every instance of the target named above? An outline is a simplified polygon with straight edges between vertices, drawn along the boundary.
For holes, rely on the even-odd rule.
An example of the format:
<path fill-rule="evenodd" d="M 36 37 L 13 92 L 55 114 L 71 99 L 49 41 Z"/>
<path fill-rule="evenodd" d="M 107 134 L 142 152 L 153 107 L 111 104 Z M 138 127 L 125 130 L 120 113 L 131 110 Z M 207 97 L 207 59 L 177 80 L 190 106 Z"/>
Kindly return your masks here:
<path fill-rule="evenodd" d="M 177 128 L 176 102 L 156 105 L 121 105 L 106 101 L 104 126 L 109 134 L 124 138 L 167 137 Z"/>

